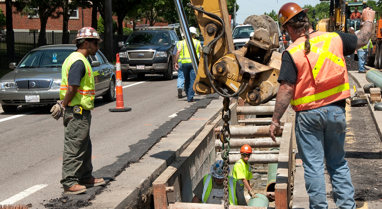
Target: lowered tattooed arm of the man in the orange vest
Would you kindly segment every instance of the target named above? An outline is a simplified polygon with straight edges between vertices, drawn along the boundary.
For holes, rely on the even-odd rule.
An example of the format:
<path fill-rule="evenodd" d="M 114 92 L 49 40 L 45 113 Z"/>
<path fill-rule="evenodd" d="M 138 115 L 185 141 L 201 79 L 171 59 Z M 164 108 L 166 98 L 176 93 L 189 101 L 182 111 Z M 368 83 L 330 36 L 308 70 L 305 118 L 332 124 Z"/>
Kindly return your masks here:
<path fill-rule="evenodd" d="M 292 99 L 292 93 L 294 88 L 294 84 L 288 81 L 281 81 L 281 85 L 278 88 L 276 96 L 275 111 L 272 117 L 272 121 L 276 125 L 280 125 L 280 119 L 283 117 L 286 108 L 288 108 L 290 100 Z M 273 141 L 276 141 L 275 133 L 277 135 L 280 135 L 280 128 L 278 126 L 275 126 L 274 124 L 271 124 L 269 128 L 269 135 Z"/>

